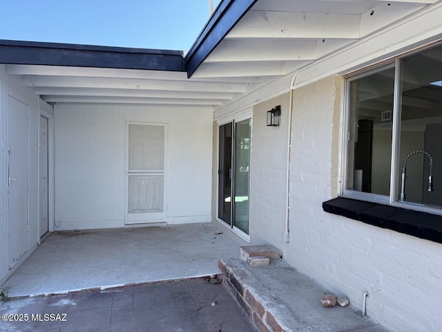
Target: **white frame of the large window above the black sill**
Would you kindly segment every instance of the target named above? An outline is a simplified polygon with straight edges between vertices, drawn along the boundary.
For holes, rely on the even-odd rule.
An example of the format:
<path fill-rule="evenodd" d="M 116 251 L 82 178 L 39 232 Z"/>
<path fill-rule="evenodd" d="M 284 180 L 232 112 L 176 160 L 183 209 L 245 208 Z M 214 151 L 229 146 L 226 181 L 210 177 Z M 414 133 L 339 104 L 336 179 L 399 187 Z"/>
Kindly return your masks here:
<path fill-rule="evenodd" d="M 429 212 L 431 214 L 442 215 L 442 207 L 436 207 L 434 205 L 426 205 L 425 203 L 412 203 L 401 202 L 398 198 L 398 165 L 401 165 L 399 160 L 399 149 L 401 141 L 401 118 L 402 118 L 402 73 L 403 73 L 403 59 L 410 57 L 414 54 L 418 54 L 434 48 L 442 46 L 442 42 L 435 42 L 426 46 L 421 46 L 407 53 L 396 55 L 383 62 L 361 68 L 358 71 L 344 75 L 344 91 L 343 91 L 343 135 L 342 135 L 342 152 L 341 152 L 341 172 L 340 172 L 340 195 L 348 199 L 356 199 L 360 201 L 367 201 L 372 203 L 379 203 L 383 205 L 392 205 L 396 208 L 405 208 L 408 210 L 416 210 L 420 212 Z M 379 71 L 383 71 L 388 68 L 394 68 L 394 96 L 393 96 L 393 122 L 392 122 L 392 160 L 390 165 L 390 194 L 384 196 L 381 194 L 372 194 L 368 192 L 358 192 L 356 190 L 347 189 L 347 173 L 349 162 L 349 136 L 350 136 L 350 123 L 351 110 L 350 110 L 350 85 L 355 80 L 373 75 Z M 442 175 L 442 174 L 441 174 Z"/>

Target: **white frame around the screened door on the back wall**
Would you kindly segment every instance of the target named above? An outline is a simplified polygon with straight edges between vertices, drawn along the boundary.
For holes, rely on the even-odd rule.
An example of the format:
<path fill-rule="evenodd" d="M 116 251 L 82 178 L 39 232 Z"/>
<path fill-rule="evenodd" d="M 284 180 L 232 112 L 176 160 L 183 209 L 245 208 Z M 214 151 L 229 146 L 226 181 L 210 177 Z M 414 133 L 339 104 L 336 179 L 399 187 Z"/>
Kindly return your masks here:
<path fill-rule="evenodd" d="M 169 124 L 158 122 L 138 122 L 138 121 L 126 121 L 126 141 L 124 144 L 124 225 L 137 225 L 140 223 L 128 221 L 128 167 L 129 167 L 129 125 L 130 124 L 142 124 L 146 126 L 162 126 L 164 127 L 164 193 L 163 193 L 163 216 L 161 219 L 154 221 L 147 221 L 145 223 L 166 223 L 167 222 L 167 189 L 168 189 L 168 138 L 169 138 Z M 143 223 L 141 223 L 143 224 Z"/>

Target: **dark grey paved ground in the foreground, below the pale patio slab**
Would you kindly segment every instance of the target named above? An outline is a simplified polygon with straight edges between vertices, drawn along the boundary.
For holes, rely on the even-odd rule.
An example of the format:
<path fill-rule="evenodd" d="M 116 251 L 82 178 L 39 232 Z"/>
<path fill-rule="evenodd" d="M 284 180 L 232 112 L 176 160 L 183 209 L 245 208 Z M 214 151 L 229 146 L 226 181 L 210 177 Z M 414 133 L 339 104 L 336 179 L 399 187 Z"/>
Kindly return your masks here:
<path fill-rule="evenodd" d="M 0 313 L 28 314 L 27 322 L 0 322 L 9 332 L 256 331 L 221 284 L 203 279 L 27 297 L 0 302 Z"/>

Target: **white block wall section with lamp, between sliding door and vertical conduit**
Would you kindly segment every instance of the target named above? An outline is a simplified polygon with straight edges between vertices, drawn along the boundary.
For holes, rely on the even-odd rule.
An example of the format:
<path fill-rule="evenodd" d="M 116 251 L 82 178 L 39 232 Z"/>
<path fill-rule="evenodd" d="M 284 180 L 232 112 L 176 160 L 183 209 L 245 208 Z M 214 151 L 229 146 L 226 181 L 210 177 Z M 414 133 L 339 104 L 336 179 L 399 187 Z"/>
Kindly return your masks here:
<path fill-rule="evenodd" d="M 290 93 L 253 107 L 250 176 L 252 244 L 285 243 Z M 267 111 L 280 105 L 279 127 L 267 127 Z"/>

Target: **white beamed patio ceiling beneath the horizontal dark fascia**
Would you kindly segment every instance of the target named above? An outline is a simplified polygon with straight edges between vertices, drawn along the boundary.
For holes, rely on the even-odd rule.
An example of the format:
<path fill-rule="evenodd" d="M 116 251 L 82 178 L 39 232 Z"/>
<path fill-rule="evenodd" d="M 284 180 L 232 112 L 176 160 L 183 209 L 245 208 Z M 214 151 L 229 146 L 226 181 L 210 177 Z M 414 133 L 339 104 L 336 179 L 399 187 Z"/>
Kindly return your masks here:
<path fill-rule="evenodd" d="M 219 106 L 262 77 L 188 79 L 185 72 L 7 64 L 46 102 L 110 102 Z"/>

